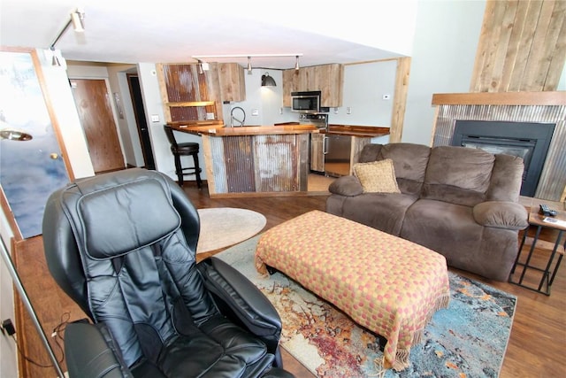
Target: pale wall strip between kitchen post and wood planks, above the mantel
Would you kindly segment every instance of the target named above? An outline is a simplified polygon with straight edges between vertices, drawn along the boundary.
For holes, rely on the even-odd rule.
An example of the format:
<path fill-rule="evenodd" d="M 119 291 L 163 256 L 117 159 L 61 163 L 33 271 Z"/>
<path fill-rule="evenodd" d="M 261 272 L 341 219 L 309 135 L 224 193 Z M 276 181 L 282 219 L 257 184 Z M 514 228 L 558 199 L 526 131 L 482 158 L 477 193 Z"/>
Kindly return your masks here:
<path fill-rule="evenodd" d="M 470 91 L 486 1 L 419 1 L 402 142 L 430 145 L 432 94 Z"/>

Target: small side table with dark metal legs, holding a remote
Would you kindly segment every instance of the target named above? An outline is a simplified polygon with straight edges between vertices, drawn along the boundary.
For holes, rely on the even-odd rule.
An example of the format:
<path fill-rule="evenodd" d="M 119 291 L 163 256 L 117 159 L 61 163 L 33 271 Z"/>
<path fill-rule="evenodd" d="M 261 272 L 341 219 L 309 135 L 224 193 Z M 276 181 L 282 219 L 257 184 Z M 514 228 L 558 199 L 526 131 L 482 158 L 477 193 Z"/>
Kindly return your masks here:
<path fill-rule="evenodd" d="M 548 204 L 548 206 L 551 209 L 556 210 L 558 214 L 555 217 L 545 217 L 544 215 L 539 213 L 539 204 Z M 553 220 L 557 222 L 553 222 Z M 534 238 L 532 239 L 531 248 L 529 249 L 526 259 L 524 260 L 524 262 L 520 262 L 519 260 L 524 250 L 528 230 L 531 227 L 536 227 L 536 233 L 534 235 Z M 563 210 L 562 204 L 540 200 L 538 198 L 532 198 L 531 211 L 529 212 L 529 228 L 524 230 L 523 239 L 519 246 L 519 252 L 516 256 L 515 265 L 513 266 L 513 269 L 511 269 L 511 274 L 509 275 L 509 282 L 549 296 L 550 288 L 552 286 L 552 283 L 555 281 L 556 273 L 558 272 L 558 268 L 562 263 L 564 249 L 566 249 L 566 242 L 561 245 L 562 234 L 564 231 L 566 231 L 566 211 Z M 554 229 L 558 232 L 558 234 L 556 235 L 554 247 L 550 252 L 546 266 L 544 268 L 542 266 L 532 265 L 532 255 L 536 248 L 536 244 L 539 242 L 540 232 L 543 228 Z M 541 249 L 545 248 L 543 247 Z M 558 255 L 558 258 L 556 258 L 556 255 Z M 518 273 L 517 266 L 523 267 L 520 274 Z M 538 286 L 536 284 L 532 285 L 532 280 L 527 280 L 529 282 L 525 282 L 525 274 L 529 269 L 535 270 L 541 274 Z M 518 280 L 516 277 L 517 275 L 519 276 Z"/>

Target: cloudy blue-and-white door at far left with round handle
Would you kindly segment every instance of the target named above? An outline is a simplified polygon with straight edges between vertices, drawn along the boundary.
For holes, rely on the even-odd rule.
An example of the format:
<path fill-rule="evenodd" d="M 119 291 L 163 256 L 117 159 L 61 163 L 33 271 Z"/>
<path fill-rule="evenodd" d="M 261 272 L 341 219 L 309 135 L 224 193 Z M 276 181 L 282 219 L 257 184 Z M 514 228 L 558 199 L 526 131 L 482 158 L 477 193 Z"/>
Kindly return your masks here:
<path fill-rule="evenodd" d="M 42 234 L 47 198 L 73 177 L 34 50 L 0 51 L 0 88 L 0 202 L 16 238 L 27 239 Z"/>

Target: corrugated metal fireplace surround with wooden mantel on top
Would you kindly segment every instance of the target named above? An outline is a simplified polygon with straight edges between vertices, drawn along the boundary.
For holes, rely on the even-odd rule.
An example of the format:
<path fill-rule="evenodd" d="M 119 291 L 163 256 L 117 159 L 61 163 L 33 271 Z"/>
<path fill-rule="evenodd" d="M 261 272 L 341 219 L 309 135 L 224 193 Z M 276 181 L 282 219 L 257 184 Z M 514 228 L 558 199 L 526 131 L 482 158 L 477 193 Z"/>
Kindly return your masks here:
<path fill-rule="evenodd" d="M 553 123 L 534 197 L 560 201 L 566 188 L 566 92 L 435 94 L 432 146 L 451 145 L 456 120 Z"/>

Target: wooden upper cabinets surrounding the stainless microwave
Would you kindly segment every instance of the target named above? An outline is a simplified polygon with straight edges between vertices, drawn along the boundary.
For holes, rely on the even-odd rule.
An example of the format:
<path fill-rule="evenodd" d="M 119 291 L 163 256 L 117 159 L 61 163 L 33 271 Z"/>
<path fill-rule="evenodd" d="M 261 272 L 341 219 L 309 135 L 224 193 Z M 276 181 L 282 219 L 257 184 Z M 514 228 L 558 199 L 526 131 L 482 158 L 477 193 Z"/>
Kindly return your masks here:
<path fill-rule="evenodd" d="M 291 106 L 291 92 L 320 90 L 325 107 L 342 105 L 344 66 L 340 64 L 302 67 L 283 71 L 283 106 Z"/>

